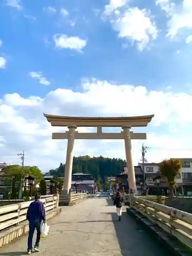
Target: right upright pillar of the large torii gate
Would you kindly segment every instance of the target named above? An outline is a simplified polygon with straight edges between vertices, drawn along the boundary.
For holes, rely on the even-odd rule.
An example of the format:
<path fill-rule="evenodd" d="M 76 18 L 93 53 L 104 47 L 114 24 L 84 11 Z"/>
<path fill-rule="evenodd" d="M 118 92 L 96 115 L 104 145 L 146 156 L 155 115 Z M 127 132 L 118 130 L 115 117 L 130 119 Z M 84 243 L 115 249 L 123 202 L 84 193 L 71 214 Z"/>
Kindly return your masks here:
<path fill-rule="evenodd" d="M 125 155 L 126 155 L 126 166 L 127 166 L 127 176 L 129 182 L 129 190 L 133 189 L 134 194 L 137 194 L 137 186 L 135 180 L 135 169 L 132 157 L 132 145 L 130 136 L 131 127 L 122 127 L 124 132 L 124 144 L 125 144 Z"/>

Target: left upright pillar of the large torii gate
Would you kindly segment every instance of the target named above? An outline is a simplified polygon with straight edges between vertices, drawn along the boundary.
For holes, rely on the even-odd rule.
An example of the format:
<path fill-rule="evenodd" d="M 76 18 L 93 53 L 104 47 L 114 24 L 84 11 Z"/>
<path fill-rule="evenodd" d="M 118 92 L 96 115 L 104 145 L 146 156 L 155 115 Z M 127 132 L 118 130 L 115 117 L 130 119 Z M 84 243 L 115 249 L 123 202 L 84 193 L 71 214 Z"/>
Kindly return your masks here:
<path fill-rule="evenodd" d="M 69 128 L 69 137 L 68 137 L 68 146 L 66 154 L 66 165 L 65 165 L 65 179 L 63 182 L 63 194 L 68 195 L 69 189 L 71 188 L 72 180 L 72 167 L 73 167 L 73 147 L 74 147 L 74 138 L 75 138 L 75 125 L 70 126 Z"/>

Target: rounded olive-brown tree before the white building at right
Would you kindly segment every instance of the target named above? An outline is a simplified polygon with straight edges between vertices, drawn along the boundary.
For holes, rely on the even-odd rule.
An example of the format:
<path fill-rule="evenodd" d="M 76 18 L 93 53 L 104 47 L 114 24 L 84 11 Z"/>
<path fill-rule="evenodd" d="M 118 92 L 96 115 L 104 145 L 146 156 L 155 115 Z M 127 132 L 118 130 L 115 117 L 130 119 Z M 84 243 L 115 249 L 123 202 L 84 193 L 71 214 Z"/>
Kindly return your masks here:
<path fill-rule="evenodd" d="M 163 160 L 159 164 L 159 173 L 164 176 L 170 187 L 170 197 L 174 197 L 176 177 L 181 172 L 182 163 L 178 159 Z"/>

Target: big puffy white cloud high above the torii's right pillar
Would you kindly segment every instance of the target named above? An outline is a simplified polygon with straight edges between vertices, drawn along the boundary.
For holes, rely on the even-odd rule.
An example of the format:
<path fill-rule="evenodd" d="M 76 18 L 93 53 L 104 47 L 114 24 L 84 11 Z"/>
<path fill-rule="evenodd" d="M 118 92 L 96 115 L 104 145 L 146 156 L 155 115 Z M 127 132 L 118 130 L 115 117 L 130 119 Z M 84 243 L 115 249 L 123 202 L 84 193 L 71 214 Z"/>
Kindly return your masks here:
<path fill-rule="evenodd" d="M 110 20 L 119 37 L 136 42 L 138 49 L 142 51 L 150 40 L 156 39 L 158 30 L 152 21 L 150 11 L 138 7 L 130 8 L 128 2 L 111 1 L 105 6 L 102 17 Z"/>

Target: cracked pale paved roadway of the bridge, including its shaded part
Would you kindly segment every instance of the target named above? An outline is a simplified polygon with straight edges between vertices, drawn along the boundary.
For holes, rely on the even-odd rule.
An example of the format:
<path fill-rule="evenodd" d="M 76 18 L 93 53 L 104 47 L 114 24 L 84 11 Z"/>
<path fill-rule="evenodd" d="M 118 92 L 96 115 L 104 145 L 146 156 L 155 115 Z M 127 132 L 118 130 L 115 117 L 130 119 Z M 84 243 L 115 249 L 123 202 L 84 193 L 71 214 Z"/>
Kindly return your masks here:
<path fill-rule="evenodd" d="M 111 199 L 89 199 L 62 207 L 51 219 L 50 234 L 41 241 L 38 256 L 165 256 L 150 235 L 123 212 L 117 220 Z M 26 254 L 27 236 L 0 249 L 1 256 Z"/>

